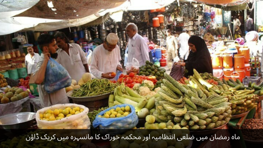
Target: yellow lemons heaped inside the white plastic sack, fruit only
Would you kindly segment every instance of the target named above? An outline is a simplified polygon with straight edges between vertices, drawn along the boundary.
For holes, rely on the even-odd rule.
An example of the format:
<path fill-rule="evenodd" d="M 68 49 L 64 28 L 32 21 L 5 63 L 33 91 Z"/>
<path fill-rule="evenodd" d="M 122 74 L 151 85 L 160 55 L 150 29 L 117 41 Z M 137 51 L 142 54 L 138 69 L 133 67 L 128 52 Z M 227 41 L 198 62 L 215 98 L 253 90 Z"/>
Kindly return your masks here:
<path fill-rule="evenodd" d="M 55 121 L 83 112 L 84 109 L 79 107 L 66 107 L 64 109 L 47 110 L 43 114 L 39 114 L 40 120 Z"/>

